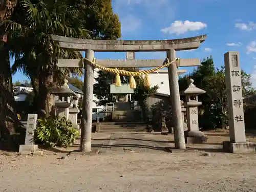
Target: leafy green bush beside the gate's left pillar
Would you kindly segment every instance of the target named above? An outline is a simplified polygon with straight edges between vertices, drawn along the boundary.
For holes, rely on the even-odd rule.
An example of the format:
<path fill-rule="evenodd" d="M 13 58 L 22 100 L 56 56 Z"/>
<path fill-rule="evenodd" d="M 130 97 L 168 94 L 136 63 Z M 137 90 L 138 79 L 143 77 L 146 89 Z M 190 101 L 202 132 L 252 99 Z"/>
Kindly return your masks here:
<path fill-rule="evenodd" d="M 49 146 L 67 147 L 75 142 L 78 131 L 65 117 L 38 119 L 35 140 Z"/>

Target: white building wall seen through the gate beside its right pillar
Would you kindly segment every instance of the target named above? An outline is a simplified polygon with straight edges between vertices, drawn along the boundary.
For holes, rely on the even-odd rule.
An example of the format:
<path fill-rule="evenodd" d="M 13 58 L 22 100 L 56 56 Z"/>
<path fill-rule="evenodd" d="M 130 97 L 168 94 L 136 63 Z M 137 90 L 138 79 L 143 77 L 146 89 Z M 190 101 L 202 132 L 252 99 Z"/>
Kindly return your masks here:
<path fill-rule="evenodd" d="M 154 87 L 158 85 L 158 93 L 162 94 L 170 94 L 169 89 L 169 78 L 168 78 L 168 72 L 161 72 L 161 70 L 158 71 L 158 74 L 156 72 L 150 73 L 148 75 L 150 77 L 151 86 Z"/>

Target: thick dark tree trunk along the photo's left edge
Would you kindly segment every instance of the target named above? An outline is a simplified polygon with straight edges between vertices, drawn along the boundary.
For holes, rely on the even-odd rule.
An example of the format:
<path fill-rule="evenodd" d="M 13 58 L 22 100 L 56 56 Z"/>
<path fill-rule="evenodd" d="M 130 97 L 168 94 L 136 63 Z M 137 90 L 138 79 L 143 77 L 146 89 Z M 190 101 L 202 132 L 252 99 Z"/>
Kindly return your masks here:
<path fill-rule="evenodd" d="M 15 110 L 10 72 L 10 31 L 19 29 L 20 26 L 10 20 L 16 9 L 17 0 L 2 0 L 0 3 L 0 146 L 12 147 L 18 143 L 14 142 L 18 136 L 24 136 L 18 133 L 25 133 Z"/>

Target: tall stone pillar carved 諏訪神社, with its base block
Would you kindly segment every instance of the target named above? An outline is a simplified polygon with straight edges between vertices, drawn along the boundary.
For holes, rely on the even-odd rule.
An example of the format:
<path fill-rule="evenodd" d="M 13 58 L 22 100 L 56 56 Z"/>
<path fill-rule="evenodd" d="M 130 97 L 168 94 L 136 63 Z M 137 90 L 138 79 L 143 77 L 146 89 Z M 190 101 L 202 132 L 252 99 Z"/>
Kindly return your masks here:
<path fill-rule="evenodd" d="M 255 152 L 256 144 L 246 142 L 239 52 L 224 55 L 227 89 L 227 112 L 230 142 L 223 142 L 224 151 Z"/>

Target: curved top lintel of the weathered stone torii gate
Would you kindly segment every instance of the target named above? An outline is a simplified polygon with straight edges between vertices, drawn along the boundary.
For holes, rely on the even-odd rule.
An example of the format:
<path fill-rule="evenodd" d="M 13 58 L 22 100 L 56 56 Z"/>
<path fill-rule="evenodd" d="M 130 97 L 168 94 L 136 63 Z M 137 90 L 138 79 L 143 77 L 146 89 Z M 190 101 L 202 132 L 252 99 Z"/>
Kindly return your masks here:
<path fill-rule="evenodd" d="M 57 35 L 52 35 L 52 38 L 54 41 L 58 41 L 59 46 L 63 49 L 78 51 L 91 49 L 96 52 L 138 52 L 197 49 L 201 42 L 205 41 L 206 35 L 173 40 L 94 40 Z"/>

